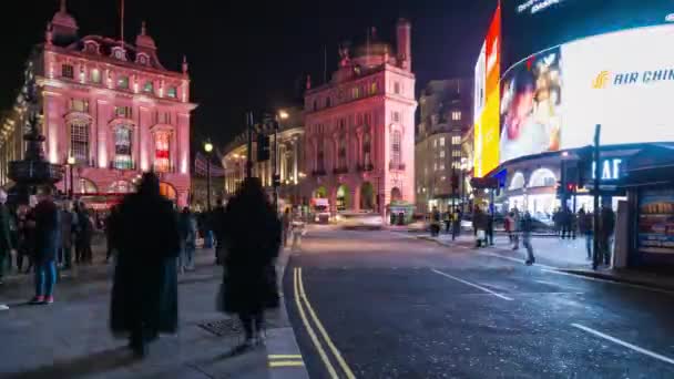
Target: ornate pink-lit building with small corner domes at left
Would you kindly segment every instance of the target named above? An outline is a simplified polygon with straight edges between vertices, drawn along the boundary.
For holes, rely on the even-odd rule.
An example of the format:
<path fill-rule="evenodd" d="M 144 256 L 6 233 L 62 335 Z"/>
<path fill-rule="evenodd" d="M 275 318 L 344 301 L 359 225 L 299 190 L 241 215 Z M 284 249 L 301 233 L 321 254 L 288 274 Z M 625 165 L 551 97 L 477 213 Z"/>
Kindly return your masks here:
<path fill-rule="evenodd" d="M 27 65 L 42 90 L 45 157 L 71 163 L 59 191 L 104 207 L 132 192 L 142 172 L 154 171 L 165 196 L 187 203 L 190 119 L 196 107 L 190 102 L 188 66 L 183 59 L 182 72 L 165 69 L 144 22 L 133 44 L 79 37 L 63 0 Z M 0 117 L 0 182 L 9 186 L 8 162 L 23 152 L 22 96 Z"/>

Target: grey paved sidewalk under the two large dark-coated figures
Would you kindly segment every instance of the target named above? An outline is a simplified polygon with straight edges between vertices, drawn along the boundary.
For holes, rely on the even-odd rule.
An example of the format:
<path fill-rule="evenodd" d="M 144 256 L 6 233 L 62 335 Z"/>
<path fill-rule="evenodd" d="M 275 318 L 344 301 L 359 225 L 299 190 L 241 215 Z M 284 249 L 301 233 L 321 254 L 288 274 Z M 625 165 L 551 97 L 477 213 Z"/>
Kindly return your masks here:
<path fill-rule="evenodd" d="M 279 259 L 282 273 L 288 254 Z M 243 331 L 237 319 L 215 310 L 222 268 L 213 265 L 212 249 L 197 250 L 196 269 L 178 277 L 178 332 L 161 336 L 145 360 L 134 360 L 126 340 L 108 327 L 113 266 L 101 265 L 103 258 L 61 280 L 51 306 L 25 305 L 32 280 L 0 288 L 0 304 L 9 306 L 0 311 L 0 377 L 308 378 L 283 299 L 267 313 L 266 346 L 235 354 Z"/>

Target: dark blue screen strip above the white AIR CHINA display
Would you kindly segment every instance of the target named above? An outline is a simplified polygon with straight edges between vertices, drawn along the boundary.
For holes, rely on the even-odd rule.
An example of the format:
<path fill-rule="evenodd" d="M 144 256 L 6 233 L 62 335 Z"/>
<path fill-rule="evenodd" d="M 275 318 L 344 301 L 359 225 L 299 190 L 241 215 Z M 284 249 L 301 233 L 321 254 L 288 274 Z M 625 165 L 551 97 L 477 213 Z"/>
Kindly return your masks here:
<path fill-rule="evenodd" d="M 581 38 L 674 21 L 672 0 L 501 0 L 503 66 Z"/>

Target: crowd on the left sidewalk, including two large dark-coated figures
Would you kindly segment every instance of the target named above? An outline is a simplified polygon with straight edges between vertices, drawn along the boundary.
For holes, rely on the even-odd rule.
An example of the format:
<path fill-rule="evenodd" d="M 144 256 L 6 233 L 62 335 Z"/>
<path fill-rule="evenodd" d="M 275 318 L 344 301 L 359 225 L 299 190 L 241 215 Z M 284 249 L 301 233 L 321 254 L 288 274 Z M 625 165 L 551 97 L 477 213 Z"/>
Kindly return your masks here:
<path fill-rule="evenodd" d="M 223 268 L 219 291 L 214 290 L 218 309 L 241 319 L 243 348 L 264 344 L 264 310 L 279 304 L 275 260 L 288 235 L 297 247 L 304 234 L 304 223 L 289 209 L 277 215 L 257 178 L 244 181 L 226 205 L 218 199 L 201 222 L 200 215 L 176 209 L 160 194 L 153 173 L 144 174 L 137 192 L 100 222 L 80 202 L 55 201 L 49 187 L 13 212 L 6 203 L 0 191 L 0 280 L 16 252 L 17 270 L 34 273 L 33 305 L 54 301 L 59 274 L 90 265 L 93 232 L 105 232 L 105 262 L 115 265 L 110 328 L 129 339 L 137 357 L 146 355 L 159 334 L 176 331 L 177 277 L 194 269 L 197 238 L 210 232 L 215 262 Z"/>

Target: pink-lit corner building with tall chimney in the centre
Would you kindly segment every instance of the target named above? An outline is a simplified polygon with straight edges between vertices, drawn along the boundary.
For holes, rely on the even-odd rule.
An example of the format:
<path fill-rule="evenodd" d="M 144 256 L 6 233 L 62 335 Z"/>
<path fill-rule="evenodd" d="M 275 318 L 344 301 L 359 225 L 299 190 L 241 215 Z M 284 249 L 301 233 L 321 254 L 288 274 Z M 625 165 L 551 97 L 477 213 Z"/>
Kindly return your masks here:
<path fill-rule="evenodd" d="M 395 50 L 374 31 L 362 44 L 340 48 L 331 80 L 305 94 L 303 192 L 328 197 L 333 213 L 415 203 L 410 29 L 398 21 Z"/>

